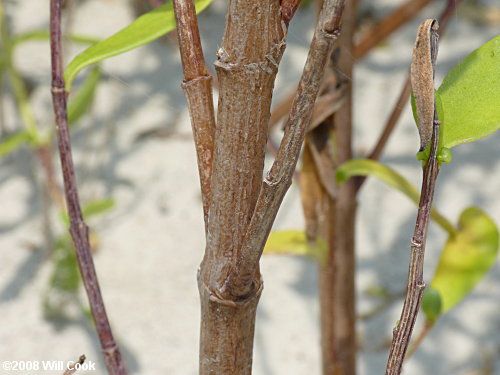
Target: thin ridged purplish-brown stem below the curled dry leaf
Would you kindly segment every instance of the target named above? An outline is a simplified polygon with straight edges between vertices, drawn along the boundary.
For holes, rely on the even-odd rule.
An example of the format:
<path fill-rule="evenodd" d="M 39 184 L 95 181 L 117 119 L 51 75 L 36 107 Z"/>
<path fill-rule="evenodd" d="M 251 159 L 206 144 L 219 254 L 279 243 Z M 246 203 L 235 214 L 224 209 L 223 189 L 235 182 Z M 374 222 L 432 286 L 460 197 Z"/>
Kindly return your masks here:
<path fill-rule="evenodd" d="M 422 179 L 422 194 L 418 207 L 417 221 L 411 239 L 410 267 L 408 271 L 408 286 L 403 311 L 397 326 L 393 330 L 393 339 L 389 359 L 387 361 L 386 375 L 399 375 L 410 342 L 410 337 L 417 320 L 422 294 L 425 289 L 423 280 L 425 242 L 427 229 L 434 197 L 436 179 L 439 172 L 437 150 L 439 143 L 440 122 L 434 111 L 434 126 L 429 159 L 424 166 Z"/>

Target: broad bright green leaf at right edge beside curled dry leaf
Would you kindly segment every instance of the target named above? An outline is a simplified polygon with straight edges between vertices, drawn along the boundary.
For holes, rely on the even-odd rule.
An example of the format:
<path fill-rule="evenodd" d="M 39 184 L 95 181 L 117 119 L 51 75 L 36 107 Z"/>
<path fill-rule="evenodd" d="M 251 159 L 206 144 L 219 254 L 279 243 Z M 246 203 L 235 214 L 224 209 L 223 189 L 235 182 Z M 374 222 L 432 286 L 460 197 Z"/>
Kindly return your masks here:
<path fill-rule="evenodd" d="M 437 90 L 441 145 L 452 148 L 500 128 L 500 36 L 469 54 Z M 441 108 L 440 108 L 441 107 Z"/>

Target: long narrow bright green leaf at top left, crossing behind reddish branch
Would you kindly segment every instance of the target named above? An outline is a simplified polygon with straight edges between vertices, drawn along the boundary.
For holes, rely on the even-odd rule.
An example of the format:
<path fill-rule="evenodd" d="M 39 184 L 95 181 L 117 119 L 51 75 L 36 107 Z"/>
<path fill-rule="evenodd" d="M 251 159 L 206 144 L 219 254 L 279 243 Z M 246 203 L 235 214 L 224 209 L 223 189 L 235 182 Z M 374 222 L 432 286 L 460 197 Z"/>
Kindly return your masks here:
<path fill-rule="evenodd" d="M 197 0 L 196 12 L 201 12 L 211 2 L 212 0 Z M 66 91 L 71 91 L 75 76 L 85 67 L 148 44 L 174 30 L 175 27 L 172 2 L 143 14 L 130 25 L 76 56 L 64 72 Z"/>

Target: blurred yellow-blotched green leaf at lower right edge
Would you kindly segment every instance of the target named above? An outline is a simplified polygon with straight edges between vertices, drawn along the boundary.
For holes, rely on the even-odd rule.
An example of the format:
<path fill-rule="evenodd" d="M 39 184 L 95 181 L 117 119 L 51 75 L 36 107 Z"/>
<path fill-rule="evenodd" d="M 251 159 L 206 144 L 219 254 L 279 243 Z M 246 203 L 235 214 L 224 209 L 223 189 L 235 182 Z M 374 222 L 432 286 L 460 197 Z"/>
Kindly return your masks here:
<path fill-rule="evenodd" d="M 481 209 L 469 207 L 459 218 L 441 254 L 431 287 L 441 295 L 442 313 L 459 303 L 486 275 L 498 254 L 495 222 Z"/>

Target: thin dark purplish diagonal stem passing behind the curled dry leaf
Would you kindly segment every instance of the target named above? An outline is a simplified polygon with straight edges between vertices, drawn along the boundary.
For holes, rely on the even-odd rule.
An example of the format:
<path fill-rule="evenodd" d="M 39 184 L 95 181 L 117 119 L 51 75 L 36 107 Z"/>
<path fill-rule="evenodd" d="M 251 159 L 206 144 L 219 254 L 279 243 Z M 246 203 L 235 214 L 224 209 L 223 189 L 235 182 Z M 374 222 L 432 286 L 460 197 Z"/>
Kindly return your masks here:
<path fill-rule="evenodd" d="M 441 13 L 439 17 L 439 36 L 443 36 L 444 32 L 448 26 L 448 22 L 450 20 L 450 17 L 453 15 L 455 8 L 457 6 L 457 3 L 460 0 L 448 0 L 446 3 L 446 7 L 444 8 L 443 12 Z M 385 124 L 384 130 L 380 134 L 380 137 L 373 148 L 372 152 L 369 154 L 368 158 L 372 160 L 378 160 L 380 159 L 380 156 L 382 155 L 382 152 L 385 149 L 385 146 L 387 145 L 387 142 L 389 141 L 389 138 L 394 131 L 394 128 L 396 127 L 398 120 L 401 116 L 401 113 L 403 112 L 403 109 L 405 108 L 406 103 L 408 102 L 408 98 L 410 97 L 410 92 L 411 92 L 411 83 L 410 83 L 410 74 L 408 73 L 406 77 L 406 81 L 403 85 L 403 88 L 401 90 L 401 93 L 399 94 L 398 100 L 396 101 L 396 104 L 394 105 L 394 108 L 392 109 L 391 115 L 389 116 L 389 119 L 387 120 L 387 123 Z M 365 182 L 366 177 L 359 177 L 356 178 L 356 189 L 359 190 L 363 183 Z"/>

